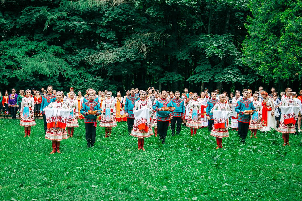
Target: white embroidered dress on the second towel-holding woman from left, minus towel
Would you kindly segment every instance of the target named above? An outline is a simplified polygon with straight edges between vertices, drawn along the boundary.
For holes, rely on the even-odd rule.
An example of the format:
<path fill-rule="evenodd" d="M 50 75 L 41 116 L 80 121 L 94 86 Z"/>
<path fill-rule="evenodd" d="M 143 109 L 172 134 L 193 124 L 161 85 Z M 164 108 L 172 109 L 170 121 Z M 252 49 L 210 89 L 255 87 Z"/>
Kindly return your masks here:
<path fill-rule="evenodd" d="M 150 101 L 147 101 L 147 100 L 145 100 L 145 101 L 142 101 L 142 100 L 135 101 L 133 111 L 142 109 L 144 107 L 147 107 L 150 110 L 152 110 L 152 106 L 150 104 Z M 153 135 L 153 130 L 152 130 L 151 122 L 149 120 L 147 120 L 146 124 L 148 126 L 148 132 L 146 132 L 144 130 L 140 130 L 138 125 L 137 125 L 137 121 L 134 120 L 133 128 L 132 128 L 130 136 L 138 137 L 138 138 L 148 138 L 148 137 L 152 136 Z"/>

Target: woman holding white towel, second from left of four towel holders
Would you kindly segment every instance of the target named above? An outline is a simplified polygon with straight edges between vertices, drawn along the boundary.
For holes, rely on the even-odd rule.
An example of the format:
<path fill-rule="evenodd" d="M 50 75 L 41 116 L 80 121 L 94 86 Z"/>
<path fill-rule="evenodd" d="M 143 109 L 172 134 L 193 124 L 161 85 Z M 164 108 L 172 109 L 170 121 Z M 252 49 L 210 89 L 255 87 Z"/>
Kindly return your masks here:
<path fill-rule="evenodd" d="M 152 116 L 152 106 L 149 101 L 146 100 L 146 91 L 140 92 L 140 100 L 135 101 L 133 107 L 133 114 L 135 117 L 134 124 L 130 136 L 137 137 L 138 150 L 144 149 L 145 138 L 153 135 L 153 130 L 151 127 L 150 117 Z M 149 110 L 141 110 L 138 113 L 137 110 L 142 108 L 148 108 Z"/>

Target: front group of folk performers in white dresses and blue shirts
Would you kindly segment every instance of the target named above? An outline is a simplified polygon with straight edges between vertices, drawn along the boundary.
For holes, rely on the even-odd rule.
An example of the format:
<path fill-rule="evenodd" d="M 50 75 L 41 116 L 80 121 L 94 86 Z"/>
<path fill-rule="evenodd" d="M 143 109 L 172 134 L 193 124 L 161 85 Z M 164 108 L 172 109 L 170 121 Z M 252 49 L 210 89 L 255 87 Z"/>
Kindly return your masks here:
<path fill-rule="evenodd" d="M 88 148 L 95 145 L 98 125 L 105 128 L 107 138 L 111 136 L 112 127 L 117 126 L 116 122 L 123 120 L 127 121 L 129 135 L 137 137 L 138 150 L 145 151 L 144 139 L 153 134 L 159 136 L 162 144 L 165 144 L 169 124 L 174 136 L 175 125 L 176 134 L 179 135 L 182 122 L 191 129 L 191 136 L 196 134 L 198 128 L 207 126 L 210 136 L 216 138 L 216 149 L 224 148 L 222 139 L 229 137 L 229 118 L 231 128 L 238 130 L 242 143 L 245 142 L 248 130 L 251 131 L 251 137 L 256 137 L 257 130 L 265 132 L 275 129 L 282 133 L 283 146 L 290 146 L 289 134 L 295 133 L 295 123 L 301 110 L 291 96 L 291 88 L 285 90 L 285 95 L 278 105 L 282 114 L 278 129 L 274 116 L 275 105 L 265 91 L 261 92 L 262 101 L 258 100 L 257 94 L 248 97 L 250 93 L 247 89 L 243 89 L 242 96 L 236 91 L 236 97 L 233 97 L 231 104 L 226 101 L 225 94 L 216 97 L 216 91 L 210 94 L 207 91 L 201 92 L 199 97 L 197 93 L 180 94 L 179 91 L 172 92 L 173 96 L 168 97 L 166 91 L 161 91 L 158 94 L 160 97 L 156 96 L 152 101 L 146 91 L 141 91 L 137 96 L 135 89 L 132 88 L 121 101 L 118 98 L 120 92 L 117 100 L 110 91 L 99 98 L 90 88 L 80 103 L 73 90 L 65 102 L 62 101 L 60 91 L 57 91 L 56 95 L 52 94 L 52 91 L 52 86 L 48 86 L 48 93 L 42 96 L 40 106 L 45 138 L 52 141 L 50 154 L 61 153 L 60 142 L 73 136 L 74 128 L 79 127 L 79 119 L 84 119 L 85 122 Z M 20 126 L 24 126 L 24 137 L 29 137 L 31 126 L 36 125 L 34 111 L 34 98 L 28 89 L 25 91 L 20 109 Z"/>

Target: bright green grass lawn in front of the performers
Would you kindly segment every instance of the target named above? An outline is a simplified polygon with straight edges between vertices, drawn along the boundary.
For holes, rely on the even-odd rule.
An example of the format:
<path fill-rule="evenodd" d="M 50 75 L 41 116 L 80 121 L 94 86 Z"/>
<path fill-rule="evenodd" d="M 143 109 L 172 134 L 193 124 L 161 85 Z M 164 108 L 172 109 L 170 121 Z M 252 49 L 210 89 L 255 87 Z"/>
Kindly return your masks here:
<path fill-rule="evenodd" d="M 282 146 L 278 132 L 258 133 L 240 145 L 237 132 L 216 139 L 207 129 L 166 144 L 152 136 L 137 151 L 127 123 L 118 123 L 111 138 L 97 128 L 94 148 L 86 148 L 84 123 L 72 139 L 52 154 L 44 139 L 43 120 L 23 138 L 19 120 L 0 119 L 1 200 L 300 200 L 302 135 Z"/>

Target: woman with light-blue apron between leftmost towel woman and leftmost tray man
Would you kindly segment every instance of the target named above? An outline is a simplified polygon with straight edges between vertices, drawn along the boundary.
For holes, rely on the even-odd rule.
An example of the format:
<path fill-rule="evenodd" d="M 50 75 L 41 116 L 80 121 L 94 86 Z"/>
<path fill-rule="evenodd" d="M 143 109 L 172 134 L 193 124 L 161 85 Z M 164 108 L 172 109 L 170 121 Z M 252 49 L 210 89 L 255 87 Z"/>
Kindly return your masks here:
<path fill-rule="evenodd" d="M 75 95 L 76 95 L 75 92 L 70 91 L 69 98 L 66 100 L 67 107 L 72 110 L 69 114 L 66 124 L 67 134 L 69 135 L 69 137 L 73 136 L 74 128 L 79 127 L 79 123 L 78 123 L 79 107 Z"/>

